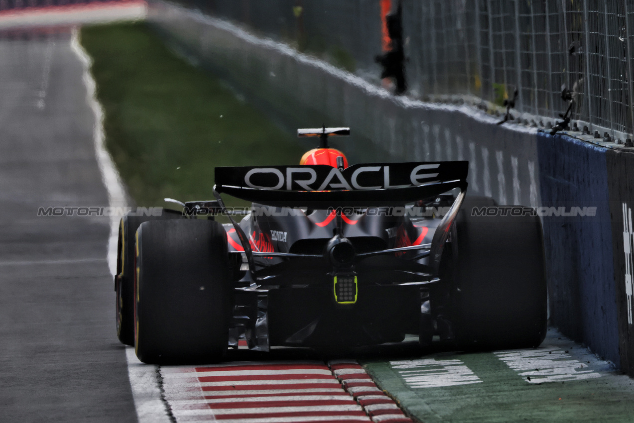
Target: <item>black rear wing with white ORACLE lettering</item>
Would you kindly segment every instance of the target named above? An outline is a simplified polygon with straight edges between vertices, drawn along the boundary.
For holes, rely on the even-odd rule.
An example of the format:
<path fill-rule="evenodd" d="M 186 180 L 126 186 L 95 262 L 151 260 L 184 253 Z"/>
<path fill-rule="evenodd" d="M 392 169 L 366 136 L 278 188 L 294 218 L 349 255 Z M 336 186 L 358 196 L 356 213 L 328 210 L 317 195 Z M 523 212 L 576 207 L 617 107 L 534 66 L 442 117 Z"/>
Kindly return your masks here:
<path fill-rule="evenodd" d="M 217 167 L 216 191 L 269 206 L 398 205 L 467 187 L 468 161 Z"/>

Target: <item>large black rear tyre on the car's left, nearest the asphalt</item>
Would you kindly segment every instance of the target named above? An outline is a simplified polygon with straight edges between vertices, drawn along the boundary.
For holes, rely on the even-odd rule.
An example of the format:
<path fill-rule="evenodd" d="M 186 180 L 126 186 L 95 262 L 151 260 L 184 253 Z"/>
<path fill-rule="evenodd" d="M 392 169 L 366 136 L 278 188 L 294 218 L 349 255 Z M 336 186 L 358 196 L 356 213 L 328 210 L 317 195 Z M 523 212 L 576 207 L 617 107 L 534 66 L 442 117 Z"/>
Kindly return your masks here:
<path fill-rule="evenodd" d="M 230 265 L 223 225 L 150 220 L 136 232 L 134 347 L 152 364 L 217 362 L 228 348 Z"/>

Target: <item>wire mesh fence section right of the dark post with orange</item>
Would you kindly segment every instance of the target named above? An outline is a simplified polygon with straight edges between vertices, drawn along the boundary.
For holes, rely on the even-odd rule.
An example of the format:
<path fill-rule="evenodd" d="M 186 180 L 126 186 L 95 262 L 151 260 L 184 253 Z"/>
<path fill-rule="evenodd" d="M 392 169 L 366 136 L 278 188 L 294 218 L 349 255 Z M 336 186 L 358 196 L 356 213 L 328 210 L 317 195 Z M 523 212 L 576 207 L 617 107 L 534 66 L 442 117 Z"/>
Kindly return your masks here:
<path fill-rule="evenodd" d="M 404 15 L 421 16 L 404 21 L 415 57 L 407 65 L 412 94 L 474 94 L 501 106 L 517 90 L 519 112 L 557 120 L 568 106 L 565 88 L 573 120 L 634 131 L 634 1 L 425 0 L 403 7 Z M 439 13 L 451 18 L 434 18 Z M 462 51 L 455 48 L 461 43 Z"/>

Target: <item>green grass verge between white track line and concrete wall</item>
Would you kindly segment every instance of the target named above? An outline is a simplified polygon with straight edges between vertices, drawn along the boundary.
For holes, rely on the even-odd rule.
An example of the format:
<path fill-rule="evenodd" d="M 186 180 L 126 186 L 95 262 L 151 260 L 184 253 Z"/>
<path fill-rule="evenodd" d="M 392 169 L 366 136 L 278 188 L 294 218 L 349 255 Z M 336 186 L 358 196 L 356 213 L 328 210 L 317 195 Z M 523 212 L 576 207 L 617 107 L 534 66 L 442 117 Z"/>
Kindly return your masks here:
<path fill-rule="evenodd" d="M 145 23 L 84 27 L 81 44 L 94 61 L 107 148 L 139 206 L 213 199 L 217 166 L 299 163 L 294 137 Z"/>

